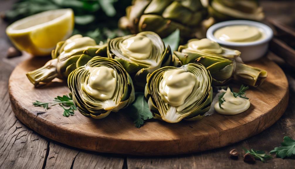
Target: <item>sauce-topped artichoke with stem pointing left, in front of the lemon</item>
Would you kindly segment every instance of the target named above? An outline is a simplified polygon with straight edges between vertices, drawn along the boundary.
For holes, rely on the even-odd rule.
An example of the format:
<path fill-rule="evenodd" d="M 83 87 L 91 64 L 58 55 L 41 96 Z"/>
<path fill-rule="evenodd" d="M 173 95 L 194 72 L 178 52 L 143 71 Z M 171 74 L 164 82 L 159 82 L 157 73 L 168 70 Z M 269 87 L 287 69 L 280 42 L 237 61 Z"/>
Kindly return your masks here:
<path fill-rule="evenodd" d="M 85 65 L 94 56 L 106 57 L 106 44 L 97 45 L 95 40 L 82 35 L 73 35 L 57 43 L 52 51 L 52 60 L 44 66 L 27 73 L 30 82 L 37 86 L 54 78 L 66 79 L 77 67 Z"/>

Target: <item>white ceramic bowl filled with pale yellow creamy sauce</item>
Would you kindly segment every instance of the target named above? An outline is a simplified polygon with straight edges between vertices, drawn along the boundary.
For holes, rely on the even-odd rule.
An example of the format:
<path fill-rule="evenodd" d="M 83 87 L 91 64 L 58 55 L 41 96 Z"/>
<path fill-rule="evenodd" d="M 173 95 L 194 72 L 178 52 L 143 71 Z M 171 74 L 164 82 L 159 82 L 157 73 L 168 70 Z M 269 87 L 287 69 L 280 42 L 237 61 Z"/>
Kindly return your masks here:
<path fill-rule="evenodd" d="M 206 35 L 224 47 L 240 51 L 243 61 L 253 61 L 267 52 L 273 31 L 260 22 L 232 20 L 212 25 Z"/>

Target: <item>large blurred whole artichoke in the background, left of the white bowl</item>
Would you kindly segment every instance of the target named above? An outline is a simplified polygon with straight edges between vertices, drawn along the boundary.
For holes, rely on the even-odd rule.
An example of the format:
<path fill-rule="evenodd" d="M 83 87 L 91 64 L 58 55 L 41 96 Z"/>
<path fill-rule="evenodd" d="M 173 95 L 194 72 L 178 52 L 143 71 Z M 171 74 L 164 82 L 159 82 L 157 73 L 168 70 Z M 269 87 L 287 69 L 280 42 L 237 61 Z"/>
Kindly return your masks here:
<path fill-rule="evenodd" d="M 119 27 L 134 34 L 153 31 L 162 38 L 179 29 L 182 37 L 193 37 L 206 16 L 200 0 L 135 0 Z"/>

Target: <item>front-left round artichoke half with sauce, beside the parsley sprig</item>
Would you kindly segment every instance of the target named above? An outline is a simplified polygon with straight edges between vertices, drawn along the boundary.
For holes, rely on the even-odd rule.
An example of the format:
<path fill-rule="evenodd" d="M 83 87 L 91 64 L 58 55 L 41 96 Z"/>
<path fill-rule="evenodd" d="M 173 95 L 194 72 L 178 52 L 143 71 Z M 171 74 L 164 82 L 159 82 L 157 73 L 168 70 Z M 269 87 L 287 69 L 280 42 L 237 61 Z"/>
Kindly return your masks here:
<path fill-rule="evenodd" d="M 131 77 L 111 58 L 96 56 L 72 71 L 68 87 L 78 111 L 97 119 L 127 107 L 135 99 Z"/>

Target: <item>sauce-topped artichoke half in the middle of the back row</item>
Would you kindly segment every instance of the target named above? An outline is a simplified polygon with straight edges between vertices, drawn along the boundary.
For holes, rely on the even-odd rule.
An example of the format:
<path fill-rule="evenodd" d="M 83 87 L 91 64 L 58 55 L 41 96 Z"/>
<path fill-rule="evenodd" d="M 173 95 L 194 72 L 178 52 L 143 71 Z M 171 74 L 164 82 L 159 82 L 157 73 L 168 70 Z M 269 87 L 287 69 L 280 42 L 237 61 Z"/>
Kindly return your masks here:
<path fill-rule="evenodd" d="M 108 57 L 119 61 L 134 79 L 134 83 L 144 87 L 148 73 L 171 64 L 171 49 L 154 32 L 140 32 L 114 38 L 108 42 Z"/>

